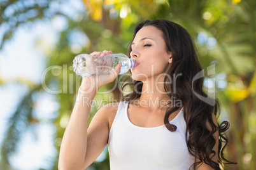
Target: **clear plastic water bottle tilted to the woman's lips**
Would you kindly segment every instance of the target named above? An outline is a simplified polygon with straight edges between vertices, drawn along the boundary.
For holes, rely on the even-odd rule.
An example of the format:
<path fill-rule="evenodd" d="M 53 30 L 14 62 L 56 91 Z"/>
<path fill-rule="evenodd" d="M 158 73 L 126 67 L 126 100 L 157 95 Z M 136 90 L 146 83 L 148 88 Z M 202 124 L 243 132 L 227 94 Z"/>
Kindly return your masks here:
<path fill-rule="evenodd" d="M 118 63 L 122 63 L 120 74 L 136 67 L 137 63 L 124 54 L 110 54 L 106 56 L 92 56 L 81 54 L 73 60 L 74 72 L 78 75 L 111 74 Z"/>

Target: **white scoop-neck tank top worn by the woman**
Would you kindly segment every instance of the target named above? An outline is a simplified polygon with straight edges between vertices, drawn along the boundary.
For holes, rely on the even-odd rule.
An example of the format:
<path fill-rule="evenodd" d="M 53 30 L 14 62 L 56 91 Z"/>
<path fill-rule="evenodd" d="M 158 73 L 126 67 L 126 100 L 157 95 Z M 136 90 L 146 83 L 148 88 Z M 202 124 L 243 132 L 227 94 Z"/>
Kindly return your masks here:
<path fill-rule="evenodd" d="M 171 124 L 143 128 L 132 124 L 127 114 L 128 103 L 121 101 L 110 129 L 108 150 L 111 170 L 188 170 L 195 158 L 188 152 L 183 109 Z"/>

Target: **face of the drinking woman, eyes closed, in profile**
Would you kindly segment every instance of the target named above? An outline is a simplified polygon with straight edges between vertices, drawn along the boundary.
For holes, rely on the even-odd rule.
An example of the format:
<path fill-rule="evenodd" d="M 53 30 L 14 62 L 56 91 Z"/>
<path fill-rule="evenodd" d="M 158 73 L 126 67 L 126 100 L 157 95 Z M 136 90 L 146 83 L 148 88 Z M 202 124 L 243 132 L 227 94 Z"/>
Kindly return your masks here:
<path fill-rule="evenodd" d="M 171 67 L 171 52 L 167 53 L 162 31 L 152 25 L 142 27 L 132 41 L 131 58 L 139 63 L 131 69 L 136 81 L 157 79 Z M 164 76 L 161 76 L 164 77 Z M 159 77 L 160 78 L 160 77 Z"/>

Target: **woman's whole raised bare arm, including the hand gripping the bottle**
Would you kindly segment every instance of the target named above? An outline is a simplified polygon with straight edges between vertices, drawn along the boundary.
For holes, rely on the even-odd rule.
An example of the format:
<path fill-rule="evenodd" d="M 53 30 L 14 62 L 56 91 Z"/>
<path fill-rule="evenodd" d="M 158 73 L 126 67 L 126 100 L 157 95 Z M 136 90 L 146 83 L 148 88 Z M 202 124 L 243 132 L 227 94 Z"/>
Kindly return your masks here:
<path fill-rule="evenodd" d="M 111 51 L 108 51 L 111 53 Z M 94 52 L 91 55 L 107 55 L 108 53 Z M 90 101 L 94 99 L 99 88 L 112 82 L 120 72 L 120 65 L 110 75 L 83 77 L 73 112 L 62 138 L 59 155 L 59 169 L 85 169 L 103 151 L 108 140 L 108 119 L 106 109 L 102 108 L 94 117 L 87 131 L 90 114 Z M 97 86 L 96 86 L 97 84 Z"/>

